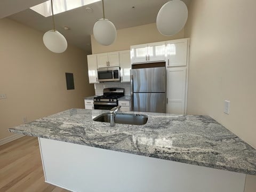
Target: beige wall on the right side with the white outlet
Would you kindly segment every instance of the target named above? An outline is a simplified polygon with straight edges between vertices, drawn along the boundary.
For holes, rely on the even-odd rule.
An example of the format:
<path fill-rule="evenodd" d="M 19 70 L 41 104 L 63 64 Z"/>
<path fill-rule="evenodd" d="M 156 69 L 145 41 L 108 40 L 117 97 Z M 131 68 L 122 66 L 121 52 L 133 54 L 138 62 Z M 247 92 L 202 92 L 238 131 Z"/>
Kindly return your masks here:
<path fill-rule="evenodd" d="M 188 114 L 210 115 L 256 148 L 256 1 L 193 0 L 185 37 L 190 37 Z M 224 100 L 230 114 L 223 113 Z M 256 177 L 247 175 L 246 191 Z"/>

